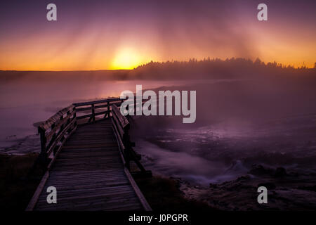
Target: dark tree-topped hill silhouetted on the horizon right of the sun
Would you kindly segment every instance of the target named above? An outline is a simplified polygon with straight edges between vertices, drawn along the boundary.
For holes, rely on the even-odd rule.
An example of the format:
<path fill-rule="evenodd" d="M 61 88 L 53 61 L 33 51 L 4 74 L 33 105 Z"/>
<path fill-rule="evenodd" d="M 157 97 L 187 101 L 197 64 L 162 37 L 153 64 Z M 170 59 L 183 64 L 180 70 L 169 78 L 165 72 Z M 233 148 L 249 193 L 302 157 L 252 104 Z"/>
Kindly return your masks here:
<path fill-rule="evenodd" d="M 205 58 L 188 61 L 153 62 L 140 65 L 131 72 L 134 78 L 140 79 L 167 79 L 167 78 L 248 78 L 261 75 L 277 74 L 314 74 L 315 68 L 310 69 L 305 65 L 294 68 L 293 65 L 282 63 L 264 63 L 259 58 L 250 60 L 246 58 Z"/>

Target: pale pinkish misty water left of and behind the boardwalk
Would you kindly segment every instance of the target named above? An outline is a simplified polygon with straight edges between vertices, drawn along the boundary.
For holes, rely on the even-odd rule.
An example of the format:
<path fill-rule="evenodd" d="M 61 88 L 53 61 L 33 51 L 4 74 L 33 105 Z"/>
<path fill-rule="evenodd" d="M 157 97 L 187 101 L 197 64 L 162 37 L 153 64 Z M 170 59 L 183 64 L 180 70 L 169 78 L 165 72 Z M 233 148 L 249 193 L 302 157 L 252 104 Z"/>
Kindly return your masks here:
<path fill-rule="evenodd" d="M 178 82 L 179 83 L 179 82 Z M 121 91 L 171 86 L 167 81 L 120 80 L 27 80 L 0 83 L 0 148 L 12 146 L 25 136 L 37 134 L 36 122 L 47 120 L 71 103 L 117 97 Z M 32 150 L 32 149 L 31 149 Z"/>

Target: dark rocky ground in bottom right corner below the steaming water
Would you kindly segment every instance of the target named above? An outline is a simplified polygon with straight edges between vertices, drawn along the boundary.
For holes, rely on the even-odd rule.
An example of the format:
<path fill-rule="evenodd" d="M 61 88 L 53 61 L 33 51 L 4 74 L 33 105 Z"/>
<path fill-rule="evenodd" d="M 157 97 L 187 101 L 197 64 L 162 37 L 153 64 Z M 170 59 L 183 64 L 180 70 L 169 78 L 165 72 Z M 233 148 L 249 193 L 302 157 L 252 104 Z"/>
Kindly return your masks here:
<path fill-rule="evenodd" d="M 254 165 L 248 174 L 233 181 L 209 184 L 209 188 L 173 179 L 186 198 L 208 203 L 218 210 L 316 210 L 315 173 L 287 173 L 283 167 Z M 268 189 L 267 204 L 258 204 L 259 186 Z"/>

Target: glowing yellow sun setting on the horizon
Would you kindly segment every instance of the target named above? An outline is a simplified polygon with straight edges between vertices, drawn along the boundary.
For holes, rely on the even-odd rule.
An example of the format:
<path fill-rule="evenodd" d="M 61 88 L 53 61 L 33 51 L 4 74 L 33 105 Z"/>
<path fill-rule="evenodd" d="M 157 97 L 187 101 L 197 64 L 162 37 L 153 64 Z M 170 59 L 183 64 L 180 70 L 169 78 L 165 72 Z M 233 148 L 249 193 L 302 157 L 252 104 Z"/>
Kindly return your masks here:
<path fill-rule="evenodd" d="M 133 49 L 121 49 L 117 52 L 110 65 L 111 70 L 131 70 L 141 62 L 140 55 Z"/>

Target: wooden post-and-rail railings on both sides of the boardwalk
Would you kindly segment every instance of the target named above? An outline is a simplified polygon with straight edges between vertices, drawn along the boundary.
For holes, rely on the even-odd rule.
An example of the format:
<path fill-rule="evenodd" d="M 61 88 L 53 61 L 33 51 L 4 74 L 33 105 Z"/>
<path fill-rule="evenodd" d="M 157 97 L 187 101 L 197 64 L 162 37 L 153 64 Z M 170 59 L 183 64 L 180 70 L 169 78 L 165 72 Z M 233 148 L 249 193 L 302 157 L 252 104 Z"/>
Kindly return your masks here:
<path fill-rule="evenodd" d="M 44 165 L 45 167 L 48 165 L 47 169 L 49 170 L 65 141 L 77 129 L 79 124 L 112 117 L 113 131 L 124 158 L 124 165 L 130 170 L 130 162 L 133 161 L 140 172 L 131 172 L 131 174 L 151 176 L 151 172 L 146 171 L 143 165 L 140 164 L 140 155 L 133 150 L 135 143 L 130 140 L 129 120 L 121 115 L 119 110 L 122 102 L 123 100 L 120 98 L 107 98 L 98 101 L 73 103 L 41 123 L 38 128 L 41 139 L 41 154 L 39 157 L 41 162 L 45 162 Z"/>

